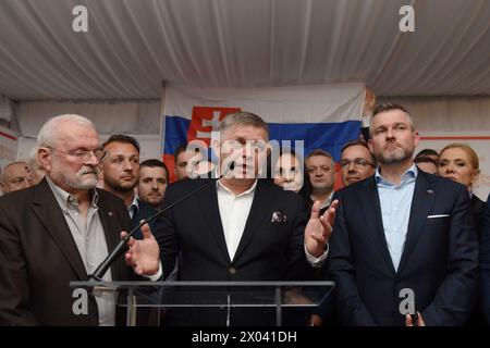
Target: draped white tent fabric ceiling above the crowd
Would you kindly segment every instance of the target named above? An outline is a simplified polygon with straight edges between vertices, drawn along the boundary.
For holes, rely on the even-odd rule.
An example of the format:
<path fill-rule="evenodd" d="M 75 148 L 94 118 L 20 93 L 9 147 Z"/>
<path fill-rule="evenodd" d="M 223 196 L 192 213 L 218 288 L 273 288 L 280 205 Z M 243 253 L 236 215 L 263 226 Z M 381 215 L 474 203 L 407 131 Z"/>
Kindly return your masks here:
<path fill-rule="evenodd" d="M 88 9 L 88 33 L 72 10 Z M 415 33 L 401 33 L 402 5 Z M 0 94 L 159 98 L 162 82 L 365 82 L 378 96 L 490 95 L 488 0 L 0 0 Z"/>

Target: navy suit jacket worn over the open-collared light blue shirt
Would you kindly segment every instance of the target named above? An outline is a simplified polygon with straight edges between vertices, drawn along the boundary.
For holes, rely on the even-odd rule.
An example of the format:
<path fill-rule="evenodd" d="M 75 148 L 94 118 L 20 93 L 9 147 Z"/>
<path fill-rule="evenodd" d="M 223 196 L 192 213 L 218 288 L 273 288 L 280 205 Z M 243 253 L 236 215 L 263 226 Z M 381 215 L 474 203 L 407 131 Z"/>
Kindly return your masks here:
<path fill-rule="evenodd" d="M 400 290 L 411 288 L 427 325 L 463 325 L 478 284 L 478 246 L 465 186 L 418 171 L 408 232 L 395 271 L 375 177 L 338 192 L 330 238 L 336 307 L 346 325 L 404 325 Z M 428 219 L 429 215 L 448 217 Z"/>

